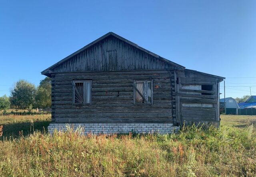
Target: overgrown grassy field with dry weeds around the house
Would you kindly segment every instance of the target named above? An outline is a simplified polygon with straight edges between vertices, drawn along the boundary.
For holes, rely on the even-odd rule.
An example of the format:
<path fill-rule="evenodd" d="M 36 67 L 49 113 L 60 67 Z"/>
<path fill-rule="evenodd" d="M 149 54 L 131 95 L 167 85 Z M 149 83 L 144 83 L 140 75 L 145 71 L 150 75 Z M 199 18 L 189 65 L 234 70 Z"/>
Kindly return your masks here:
<path fill-rule="evenodd" d="M 222 115 L 220 129 L 176 135 L 50 136 L 49 115 L 0 116 L 0 176 L 256 176 L 255 120 Z"/>

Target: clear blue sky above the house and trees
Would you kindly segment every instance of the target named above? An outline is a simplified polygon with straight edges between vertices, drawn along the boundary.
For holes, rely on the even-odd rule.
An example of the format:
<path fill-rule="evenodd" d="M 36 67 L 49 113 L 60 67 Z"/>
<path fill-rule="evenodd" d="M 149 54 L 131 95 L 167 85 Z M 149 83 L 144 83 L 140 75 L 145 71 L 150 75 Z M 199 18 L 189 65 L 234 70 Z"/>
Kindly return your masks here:
<path fill-rule="evenodd" d="M 110 31 L 226 77 L 226 97 L 250 94 L 248 86 L 256 95 L 255 0 L 2 0 L 0 96 L 19 79 L 37 86 L 42 70 Z"/>

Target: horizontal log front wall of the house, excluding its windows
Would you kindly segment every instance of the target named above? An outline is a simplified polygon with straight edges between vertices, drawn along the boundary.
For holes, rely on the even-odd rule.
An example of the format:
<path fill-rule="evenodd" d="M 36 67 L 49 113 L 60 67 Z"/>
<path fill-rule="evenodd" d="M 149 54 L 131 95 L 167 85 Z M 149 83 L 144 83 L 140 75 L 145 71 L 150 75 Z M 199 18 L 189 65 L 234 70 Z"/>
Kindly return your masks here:
<path fill-rule="evenodd" d="M 170 74 L 174 71 L 81 72 L 54 74 L 55 122 L 172 123 Z M 152 79 L 153 105 L 134 105 L 134 80 Z M 92 80 L 92 105 L 72 104 L 72 80 Z M 175 111 L 173 111 L 175 113 Z"/>

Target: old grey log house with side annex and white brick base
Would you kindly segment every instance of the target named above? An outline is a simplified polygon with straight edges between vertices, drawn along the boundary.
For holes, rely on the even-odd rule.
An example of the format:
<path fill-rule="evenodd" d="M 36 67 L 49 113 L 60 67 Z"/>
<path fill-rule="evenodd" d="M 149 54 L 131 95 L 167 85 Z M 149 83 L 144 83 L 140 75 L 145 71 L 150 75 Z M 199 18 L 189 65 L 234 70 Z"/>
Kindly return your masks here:
<path fill-rule="evenodd" d="M 168 133 L 183 123 L 219 124 L 224 79 L 162 58 L 113 32 L 42 71 L 52 78 L 52 123 L 92 133 Z"/>

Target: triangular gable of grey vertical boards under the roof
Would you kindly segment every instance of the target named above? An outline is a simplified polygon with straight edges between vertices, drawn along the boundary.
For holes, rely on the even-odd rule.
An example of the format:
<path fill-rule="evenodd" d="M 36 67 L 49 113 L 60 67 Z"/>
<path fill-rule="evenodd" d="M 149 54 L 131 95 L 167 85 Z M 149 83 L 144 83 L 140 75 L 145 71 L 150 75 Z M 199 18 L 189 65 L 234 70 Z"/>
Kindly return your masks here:
<path fill-rule="evenodd" d="M 94 44 L 52 69 L 58 72 L 95 72 L 175 69 L 114 36 Z"/>

